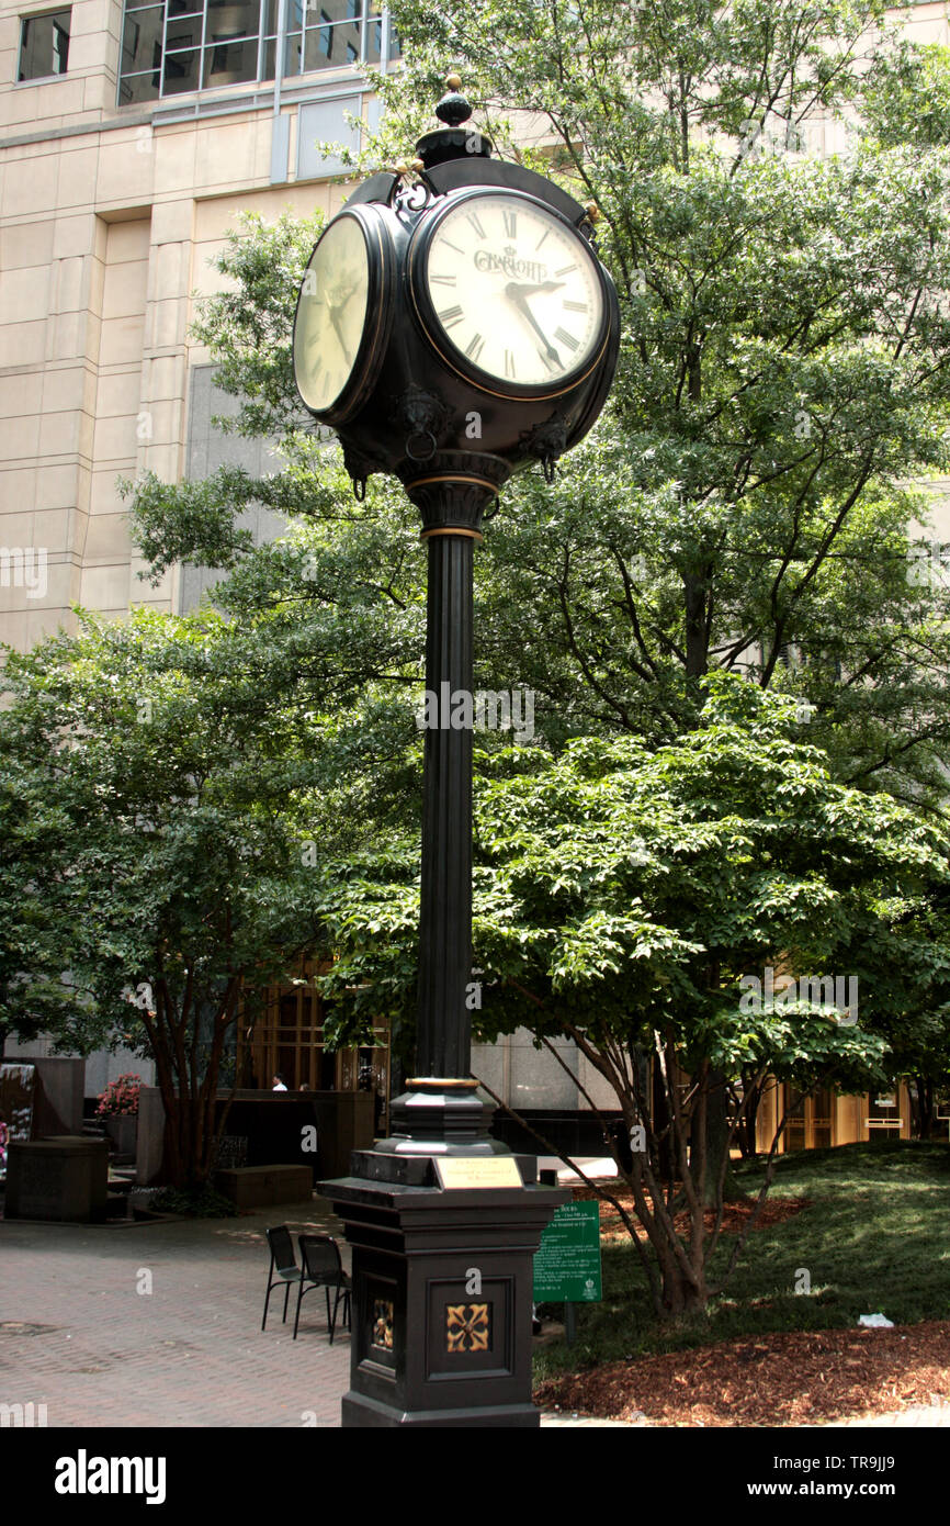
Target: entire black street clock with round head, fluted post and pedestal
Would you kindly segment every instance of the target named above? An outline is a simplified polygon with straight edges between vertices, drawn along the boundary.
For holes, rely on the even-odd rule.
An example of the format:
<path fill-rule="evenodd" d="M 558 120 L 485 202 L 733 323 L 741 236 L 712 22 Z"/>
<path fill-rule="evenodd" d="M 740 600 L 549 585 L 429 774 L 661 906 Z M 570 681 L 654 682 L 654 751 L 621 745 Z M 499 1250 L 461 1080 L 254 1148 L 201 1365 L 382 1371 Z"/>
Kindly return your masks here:
<path fill-rule="evenodd" d="M 412 166 L 372 175 L 323 232 L 294 324 L 300 395 L 357 496 L 395 473 L 421 513 L 441 719 L 444 697 L 473 697 L 485 508 L 590 429 L 619 337 L 593 209 L 491 159 L 459 84 Z M 415 1076 L 390 1137 L 322 1183 L 352 1245 L 345 1427 L 538 1424 L 534 1254 L 566 1193 L 489 1135 L 471 1077 L 471 745 L 470 726 L 425 731 Z"/>

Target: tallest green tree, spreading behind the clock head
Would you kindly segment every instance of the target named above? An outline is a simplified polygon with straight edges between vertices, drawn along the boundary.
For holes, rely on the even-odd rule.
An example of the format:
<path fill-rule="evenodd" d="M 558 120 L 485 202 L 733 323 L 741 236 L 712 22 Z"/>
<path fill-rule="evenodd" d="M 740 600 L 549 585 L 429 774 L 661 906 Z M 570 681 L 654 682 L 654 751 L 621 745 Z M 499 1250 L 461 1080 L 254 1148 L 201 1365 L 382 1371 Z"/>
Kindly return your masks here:
<path fill-rule="evenodd" d="M 947 461 L 947 153 L 878 131 L 900 55 L 881 47 L 865 84 L 859 40 L 880 8 L 396 9 L 407 66 L 378 79 L 384 134 L 361 168 L 406 151 L 445 58 L 459 61 L 499 146 L 598 200 L 622 301 L 598 436 L 554 490 L 531 473 L 511 484 L 489 525 L 479 684 L 531 687 L 557 746 L 592 731 L 672 737 L 697 722 L 704 671 L 741 670 L 801 694 L 802 725 L 845 780 L 941 800 L 950 598 L 913 543 L 926 493 L 907 484 Z M 817 108 L 845 107 L 863 125 L 849 157 L 794 151 Z M 518 146 L 505 113 L 522 110 L 557 153 Z M 325 617 L 352 583 L 406 633 L 421 613 L 415 514 L 390 484 L 349 504 L 293 394 L 314 232 L 250 223 L 218 261 L 236 290 L 198 325 L 241 398 L 232 427 L 273 432 L 287 472 L 146 481 L 142 546 L 157 568 L 252 563 L 233 522 L 259 497 L 345 554 L 320 591 L 247 578 L 246 607 L 285 594 L 300 618 L 317 603 Z M 406 653 L 418 652 L 416 633 Z M 407 682 L 403 668 L 390 691 Z"/>

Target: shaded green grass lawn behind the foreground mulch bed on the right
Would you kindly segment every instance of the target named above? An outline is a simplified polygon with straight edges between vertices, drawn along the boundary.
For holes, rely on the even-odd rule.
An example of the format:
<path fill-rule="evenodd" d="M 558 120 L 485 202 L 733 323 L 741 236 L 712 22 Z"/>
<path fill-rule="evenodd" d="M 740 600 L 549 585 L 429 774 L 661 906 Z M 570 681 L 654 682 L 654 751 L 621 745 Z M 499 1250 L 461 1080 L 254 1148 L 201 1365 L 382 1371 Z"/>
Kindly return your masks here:
<path fill-rule="evenodd" d="M 750 1193 L 762 1164 L 743 1164 Z M 855 1329 L 860 1314 L 895 1325 L 950 1318 L 950 1144 L 889 1140 L 779 1157 L 770 1198 L 808 1206 L 753 1230 L 723 1294 L 700 1318 L 659 1325 L 637 1256 L 604 1244 L 604 1300 L 578 1306 L 573 1346 L 535 1351 L 535 1378 L 775 1331 Z M 723 1236 L 714 1274 L 733 1245 Z M 805 1268 L 811 1293 L 796 1294 Z M 711 1279 L 715 1280 L 715 1276 Z"/>

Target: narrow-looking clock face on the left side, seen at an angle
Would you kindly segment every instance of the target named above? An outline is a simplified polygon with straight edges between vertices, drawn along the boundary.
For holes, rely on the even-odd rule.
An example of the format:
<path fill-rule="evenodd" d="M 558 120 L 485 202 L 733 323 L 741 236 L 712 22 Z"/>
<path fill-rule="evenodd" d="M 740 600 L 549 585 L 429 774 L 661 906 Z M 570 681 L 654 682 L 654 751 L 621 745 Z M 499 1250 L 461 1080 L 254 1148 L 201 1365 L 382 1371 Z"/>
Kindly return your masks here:
<path fill-rule="evenodd" d="M 294 378 L 314 414 L 354 377 L 369 307 L 369 255 L 355 217 L 339 217 L 314 249 L 294 320 Z"/>

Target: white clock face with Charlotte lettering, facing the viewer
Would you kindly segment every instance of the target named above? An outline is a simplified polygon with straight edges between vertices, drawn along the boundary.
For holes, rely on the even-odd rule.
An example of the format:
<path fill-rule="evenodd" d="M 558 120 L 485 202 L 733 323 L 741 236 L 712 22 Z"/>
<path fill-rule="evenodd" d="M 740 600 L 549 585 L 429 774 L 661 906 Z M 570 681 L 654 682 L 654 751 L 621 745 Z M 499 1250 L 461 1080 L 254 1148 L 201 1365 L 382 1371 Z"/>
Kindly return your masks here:
<path fill-rule="evenodd" d="M 558 391 L 604 340 L 604 287 L 586 240 L 531 197 L 459 200 L 425 246 L 421 285 L 447 359 L 505 391 Z M 432 317 L 430 317 L 432 327 Z"/>

